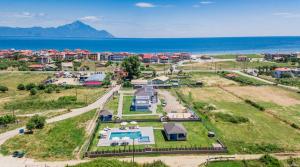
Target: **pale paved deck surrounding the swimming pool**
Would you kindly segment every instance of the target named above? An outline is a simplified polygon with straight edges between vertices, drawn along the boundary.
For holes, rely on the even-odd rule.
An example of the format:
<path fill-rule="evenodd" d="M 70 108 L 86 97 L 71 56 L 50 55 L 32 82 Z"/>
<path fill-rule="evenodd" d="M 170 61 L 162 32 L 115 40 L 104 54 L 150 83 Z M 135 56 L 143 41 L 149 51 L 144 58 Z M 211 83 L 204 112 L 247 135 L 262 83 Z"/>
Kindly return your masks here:
<path fill-rule="evenodd" d="M 111 146 L 111 144 L 114 142 L 113 140 L 110 140 L 110 134 L 112 132 L 137 132 L 137 131 L 140 131 L 142 133 L 142 136 L 148 136 L 149 137 L 149 142 L 140 142 L 138 139 L 135 139 L 134 140 L 135 145 L 155 144 L 153 127 L 139 127 L 138 129 L 126 129 L 126 130 L 121 130 L 119 128 L 112 128 L 112 129 L 107 131 L 107 136 L 105 138 L 99 139 L 99 142 L 98 142 L 97 146 L 98 147 Z M 99 135 L 99 134 L 97 134 L 97 135 Z M 122 143 L 122 141 L 123 140 L 120 140 L 119 143 Z M 128 142 L 129 145 L 133 144 L 132 139 L 130 139 L 126 142 Z"/>

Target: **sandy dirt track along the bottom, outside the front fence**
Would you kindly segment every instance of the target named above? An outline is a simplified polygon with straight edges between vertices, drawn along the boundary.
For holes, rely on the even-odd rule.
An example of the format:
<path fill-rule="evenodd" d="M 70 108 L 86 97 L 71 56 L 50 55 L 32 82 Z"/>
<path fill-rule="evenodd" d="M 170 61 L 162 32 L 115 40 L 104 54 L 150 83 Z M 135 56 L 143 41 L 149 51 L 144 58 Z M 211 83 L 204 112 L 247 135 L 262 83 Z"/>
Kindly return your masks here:
<path fill-rule="evenodd" d="M 259 159 L 263 154 L 238 154 L 238 155 L 168 155 L 168 156 L 154 156 L 154 157 L 135 157 L 135 162 L 151 163 L 153 161 L 161 160 L 170 167 L 198 167 L 200 164 L 206 162 L 208 158 L 214 157 L 234 157 L 232 160 L 254 160 Z M 276 153 L 272 154 L 280 160 L 288 159 L 290 157 L 299 158 L 300 153 Z M 42 162 L 35 161 L 29 158 L 13 158 L 11 156 L 0 156 L 1 167 L 65 167 L 66 165 L 75 165 L 89 160 L 69 160 L 69 161 L 51 161 Z M 131 162 L 132 158 L 119 158 L 119 160 Z"/>

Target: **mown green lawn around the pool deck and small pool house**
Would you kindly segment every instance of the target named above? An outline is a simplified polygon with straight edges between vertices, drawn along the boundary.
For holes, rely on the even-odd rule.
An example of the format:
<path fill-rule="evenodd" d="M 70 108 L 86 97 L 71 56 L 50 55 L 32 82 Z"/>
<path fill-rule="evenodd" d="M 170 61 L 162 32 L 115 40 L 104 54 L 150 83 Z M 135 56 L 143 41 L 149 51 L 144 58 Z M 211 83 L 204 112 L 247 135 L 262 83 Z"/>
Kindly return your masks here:
<path fill-rule="evenodd" d="M 207 137 L 208 131 L 200 122 L 183 122 L 183 126 L 188 131 L 186 141 L 167 141 L 163 132 L 163 124 L 161 122 L 139 122 L 140 127 L 153 127 L 154 129 L 154 138 L 155 144 L 151 147 L 156 148 L 167 148 L 167 147 L 181 147 L 181 146 L 202 146 L 209 147 L 215 142 L 214 139 L 209 139 Z M 105 127 L 110 128 L 119 128 L 120 124 L 115 123 L 103 123 L 99 127 L 99 131 L 103 130 Z M 97 132 L 96 134 L 99 134 Z M 97 147 L 98 136 L 93 139 L 92 147 L 90 151 L 96 150 L 114 150 L 114 149 L 124 149 L 124 146 L 109 146 L 109 147 Z M 129 146 L 125 146 L 125 149 Z M 136 148 L 144 148 L 145 145 L 137 145 Z"/>

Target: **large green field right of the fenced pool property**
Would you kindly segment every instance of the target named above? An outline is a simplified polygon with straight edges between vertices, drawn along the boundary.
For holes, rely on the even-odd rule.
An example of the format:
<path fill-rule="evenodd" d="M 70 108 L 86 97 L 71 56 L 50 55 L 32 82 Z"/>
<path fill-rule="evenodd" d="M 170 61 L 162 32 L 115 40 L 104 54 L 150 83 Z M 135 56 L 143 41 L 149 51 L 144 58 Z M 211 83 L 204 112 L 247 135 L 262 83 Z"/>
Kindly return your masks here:
<path fill-rule="evenodd" d="M 192 98 L 193 102 L 216 105 L 217 110 L 214 112 L 249 119 L 247 123 L 234 124 L 209 116 L 208 120 L 213 130 L 232 153 L 300 149 L 299 131 L 220 88 L 181 88 L 180 92 L 187 101 L 191 101 Z"/>

